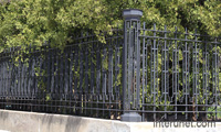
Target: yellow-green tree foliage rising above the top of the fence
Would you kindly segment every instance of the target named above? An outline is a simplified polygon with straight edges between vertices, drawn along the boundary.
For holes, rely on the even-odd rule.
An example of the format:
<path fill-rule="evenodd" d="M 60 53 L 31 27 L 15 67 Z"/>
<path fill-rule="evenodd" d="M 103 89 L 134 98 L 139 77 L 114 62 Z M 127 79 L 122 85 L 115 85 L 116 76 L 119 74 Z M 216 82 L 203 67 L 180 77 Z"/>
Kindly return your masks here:
<path fill-rule="evenodd" d="M 8 0 L 7 0 L 8 1 Z M 144 11 L 143 21 L 169 30 L 196 28 L 210 35 L 221 33 L 221 1 L 217 0 L 12 0 L 1 2 L 0 43 L 6 47 L 30 44 L 41 46 L 51 41 L 62 47 L 80 30 L 101 31 L 123 26 L 123 9 Z"/>

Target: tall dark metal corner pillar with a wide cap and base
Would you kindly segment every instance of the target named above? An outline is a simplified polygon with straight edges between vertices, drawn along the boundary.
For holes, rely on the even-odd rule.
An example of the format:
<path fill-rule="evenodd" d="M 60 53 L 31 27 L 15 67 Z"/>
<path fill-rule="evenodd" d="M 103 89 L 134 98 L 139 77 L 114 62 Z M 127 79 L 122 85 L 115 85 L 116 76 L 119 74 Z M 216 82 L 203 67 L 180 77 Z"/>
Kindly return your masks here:
<path fill-rule="evenodd" d="M 139 122 L 137 113 L 140 107 L 140 43 L 139 29 L 143 11 L 128 9 L 123 11 L 124 47 L 123 47 L 123 107 L 122 121 Z"/>

